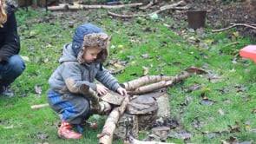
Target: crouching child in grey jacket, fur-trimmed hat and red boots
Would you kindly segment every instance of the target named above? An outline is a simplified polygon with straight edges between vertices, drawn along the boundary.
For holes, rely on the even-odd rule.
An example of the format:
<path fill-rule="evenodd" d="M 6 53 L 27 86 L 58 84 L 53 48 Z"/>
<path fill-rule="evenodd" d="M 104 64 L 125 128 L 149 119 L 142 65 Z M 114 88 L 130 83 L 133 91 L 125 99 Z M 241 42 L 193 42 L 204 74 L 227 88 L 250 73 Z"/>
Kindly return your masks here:
<path fill-rule="evenodd" d="M 102 66 L 108 58 L 109 41 L 101 28 L 86 23 L 75 29 L 73 42 L 63 46 L 61 64 L 49 77 L 47 92 L 50 108 L 62 115 L 57 131 L 60 138 L 82 138 L 82 131 L 75 132 L 72 127 L 89 119 L 92 92 L 105 95 L 110 89 L 127 95 L 125 88 Z"/>

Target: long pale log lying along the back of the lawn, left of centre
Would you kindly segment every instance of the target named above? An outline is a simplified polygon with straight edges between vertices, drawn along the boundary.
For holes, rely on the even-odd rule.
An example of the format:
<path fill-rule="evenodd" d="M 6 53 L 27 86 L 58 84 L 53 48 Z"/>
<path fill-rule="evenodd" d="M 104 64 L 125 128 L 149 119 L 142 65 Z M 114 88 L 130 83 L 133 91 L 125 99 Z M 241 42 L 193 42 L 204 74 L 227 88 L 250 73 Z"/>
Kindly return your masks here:
<path fill-rule="evenodd" d="M 69 3 L 62 3 L 58 6 L 49 6 L 48 10 L 88 10 L 88 9 L 121 9 L 124 7 L 137 7 L 143 3 L 129 3 L 121 5 L 70 5 Z"/>

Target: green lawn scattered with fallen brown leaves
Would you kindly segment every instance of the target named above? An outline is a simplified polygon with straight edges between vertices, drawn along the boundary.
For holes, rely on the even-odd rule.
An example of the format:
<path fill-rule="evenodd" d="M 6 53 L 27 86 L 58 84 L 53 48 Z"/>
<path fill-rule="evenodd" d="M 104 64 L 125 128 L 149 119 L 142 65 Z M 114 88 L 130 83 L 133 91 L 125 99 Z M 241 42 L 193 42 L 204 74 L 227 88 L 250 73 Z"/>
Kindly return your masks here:
<path fill-rule="evenodd" d="M 120 82 L 141 77 L 143 67 L 149 69 L 148 75 L 178 75 L 187 67 L 195 66 L 219 78 L 218 82 L 209 82 L 210 75 L 193 75 L 168 90 L 171 108 L 169 119 L 178 118 L 181 128 L 193 135 L 188 142 L 215 144 L 220 140 L 229 141 L 230 136 L 237 137 L 239 141 L 256 141 L 255 132 L 246 130 L 256 128 L 256 114 L 252 113 L 256 102 L 256 67 L 251 60 L 245 61 L 239 56 L 241 48 L 255 42 L 249 37 L 234 36 L 236 29 L 212 33 L 207 25 L 207 29 L 194 32 L 187 29 L 184 20 L 179 22 L 181 25 L 175 25 L 171 16 L 161 16 L 157 20 L 148 17 L 110 19 L 107 10 L 58 14 L 18 10 L 16 18 L 22 44 L 20 55 L 30 60 L 26 62 L 27 69 L 23 75 L 12 85 L 16 96 L 11 99 L 0 97 L 0 143 L 98 142 L 96 134 L 101 133 L 106 116 L 91 117 L 90 121 L 98 122 L 99 128 L 85 129 L 82 140 L 63 141 L 56 136 L 59 119 L 52 109 L 30 109 L 31 105 L 47 102 L 48 79 L 59 65 L 62 45 L 72 42 L 75 27 L 84 22 L 102 26 L 113 36 L 106 65 L 117 69 L 109 64 L 110 61 L 126 63 L 121 74 L 115 75 Z M 75 22 L 74 27 L 69 27 L 69 22 Z M 199 89 L 190 93 L 184 90 L 195 83 L 200 84 Z M 36 92 L 35 88 L 41 88 L 42 92 Z M 202 93 L 216 103 L 200 104 Z M 181 106 L 186 97 L 190 97 L 191 101 Z M 220 109 L 224 115 L 220 115 Z M 194 128 L 194 121 L 200 121 L 203 125 Z M 213 138 L 202 134 L 206 131 L 229 131 L 228 125 L 233 127 L 236 121 L 240 123 L 240 132 L 219 134 Z M 245 121 L 250 122 L 245 124 Z M 171 133 L 176 131 L 173 129 Z M 43 134 L 47 138 L 40 138 Z M 140 139 L 143 138 L 145 134 L 141 134 Z M 181 138 L 168 138 L 167 141 L 186 143 Z M 115 140 L 113 143 L 122 142 Z"/>

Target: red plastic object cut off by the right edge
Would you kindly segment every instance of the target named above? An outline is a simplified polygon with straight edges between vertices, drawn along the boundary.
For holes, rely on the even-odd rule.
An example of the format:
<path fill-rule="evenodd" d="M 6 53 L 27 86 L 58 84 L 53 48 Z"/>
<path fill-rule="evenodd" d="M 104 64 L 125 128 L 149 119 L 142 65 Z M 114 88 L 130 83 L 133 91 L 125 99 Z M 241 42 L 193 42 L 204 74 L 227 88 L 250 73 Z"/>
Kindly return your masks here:
<path fill-rule="evenodd" d="M 247 45 L 240 49 L 240 56 L 251 59 L 256 63 L 256 45 Z"/>

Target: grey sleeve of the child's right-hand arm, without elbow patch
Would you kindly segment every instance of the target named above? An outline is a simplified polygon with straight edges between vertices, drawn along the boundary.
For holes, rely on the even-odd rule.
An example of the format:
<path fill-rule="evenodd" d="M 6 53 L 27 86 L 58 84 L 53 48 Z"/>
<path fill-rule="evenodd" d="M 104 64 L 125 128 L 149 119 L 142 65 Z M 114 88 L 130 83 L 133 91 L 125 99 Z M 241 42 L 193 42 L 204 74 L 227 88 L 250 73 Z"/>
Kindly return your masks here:
<path fill-rule="evenodd" d="M 117 88 L 121 87 L 117 79 L 113 75 L 111 75 L 107 69 L 104 68 L 98 71 L 95 79 L 99 82 L 102 82 L 104 86 L 113 91 L 116 91 Z"/>

